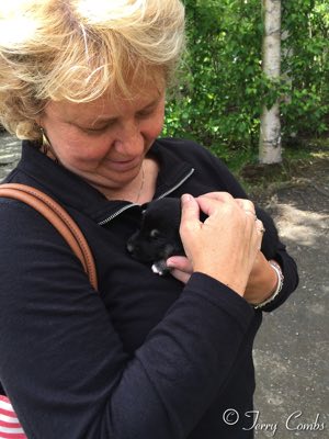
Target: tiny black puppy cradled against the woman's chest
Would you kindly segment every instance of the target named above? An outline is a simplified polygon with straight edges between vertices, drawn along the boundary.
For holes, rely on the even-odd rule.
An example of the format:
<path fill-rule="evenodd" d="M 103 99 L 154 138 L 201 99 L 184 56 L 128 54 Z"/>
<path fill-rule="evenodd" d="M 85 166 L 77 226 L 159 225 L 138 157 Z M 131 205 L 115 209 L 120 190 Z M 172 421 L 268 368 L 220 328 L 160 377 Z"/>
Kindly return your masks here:
<path fill-rule="evenodd" d="M 276 227 L 273 219 L 260 207 L 256 207 L 256 214 L 265 228 L 261 250 L 266 259 L 272 259 L 279 246 Z M 205 218 L 206 215 L 202 214 L 201 221 Z M 180 222 L 180 199 L 151 201 L 143 212 L 140 228 L 127 241 L 128 252 L 140 262 L 152 262 L 155 273 L 167 274 L 170 269 L 166 260 L 173 255 L 185 255 L 179 234 Z"/>

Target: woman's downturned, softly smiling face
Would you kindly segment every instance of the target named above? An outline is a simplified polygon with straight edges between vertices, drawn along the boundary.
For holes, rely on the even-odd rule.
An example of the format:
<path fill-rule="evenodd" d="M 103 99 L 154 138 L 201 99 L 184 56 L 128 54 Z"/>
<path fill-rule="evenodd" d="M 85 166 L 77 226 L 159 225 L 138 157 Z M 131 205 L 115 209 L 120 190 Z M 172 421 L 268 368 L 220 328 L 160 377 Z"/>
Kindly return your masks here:
<path fill-rule="evenodd" d="M 37 122 L 63 166 L 111 193 L 134 184 L 163 116 L 164 91 L 150 87 L 129 100 L 50 101 Z"/>

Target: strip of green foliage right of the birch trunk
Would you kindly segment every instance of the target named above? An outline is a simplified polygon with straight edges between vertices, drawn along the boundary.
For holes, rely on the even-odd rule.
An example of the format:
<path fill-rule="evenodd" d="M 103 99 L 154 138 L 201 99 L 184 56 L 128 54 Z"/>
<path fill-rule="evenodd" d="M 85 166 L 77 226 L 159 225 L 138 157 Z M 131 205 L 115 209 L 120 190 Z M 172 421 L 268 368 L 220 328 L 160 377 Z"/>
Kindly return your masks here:
<path fill-rule="evenodd" d="M 282 105 L 284 135 L 318 135 L 329 122 L 329 3 L 324 0 L 284 2 L 283 67 L 292 79 Z"/>

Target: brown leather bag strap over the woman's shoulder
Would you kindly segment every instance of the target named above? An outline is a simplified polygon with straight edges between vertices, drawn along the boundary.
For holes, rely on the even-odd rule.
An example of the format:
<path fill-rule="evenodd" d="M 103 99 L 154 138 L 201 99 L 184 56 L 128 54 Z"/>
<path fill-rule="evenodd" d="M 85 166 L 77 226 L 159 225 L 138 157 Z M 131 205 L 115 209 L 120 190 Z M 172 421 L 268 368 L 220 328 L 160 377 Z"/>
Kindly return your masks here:
<path fill-rule="evenodd" d="M 81 261 L 91 285 L 98 289 L 97 270 L 89 245 L 77 223 L 55 200 L 35 188 L 18 183 L 0 184 L 0 196 L 22 201 L 48 219 Z"/>

